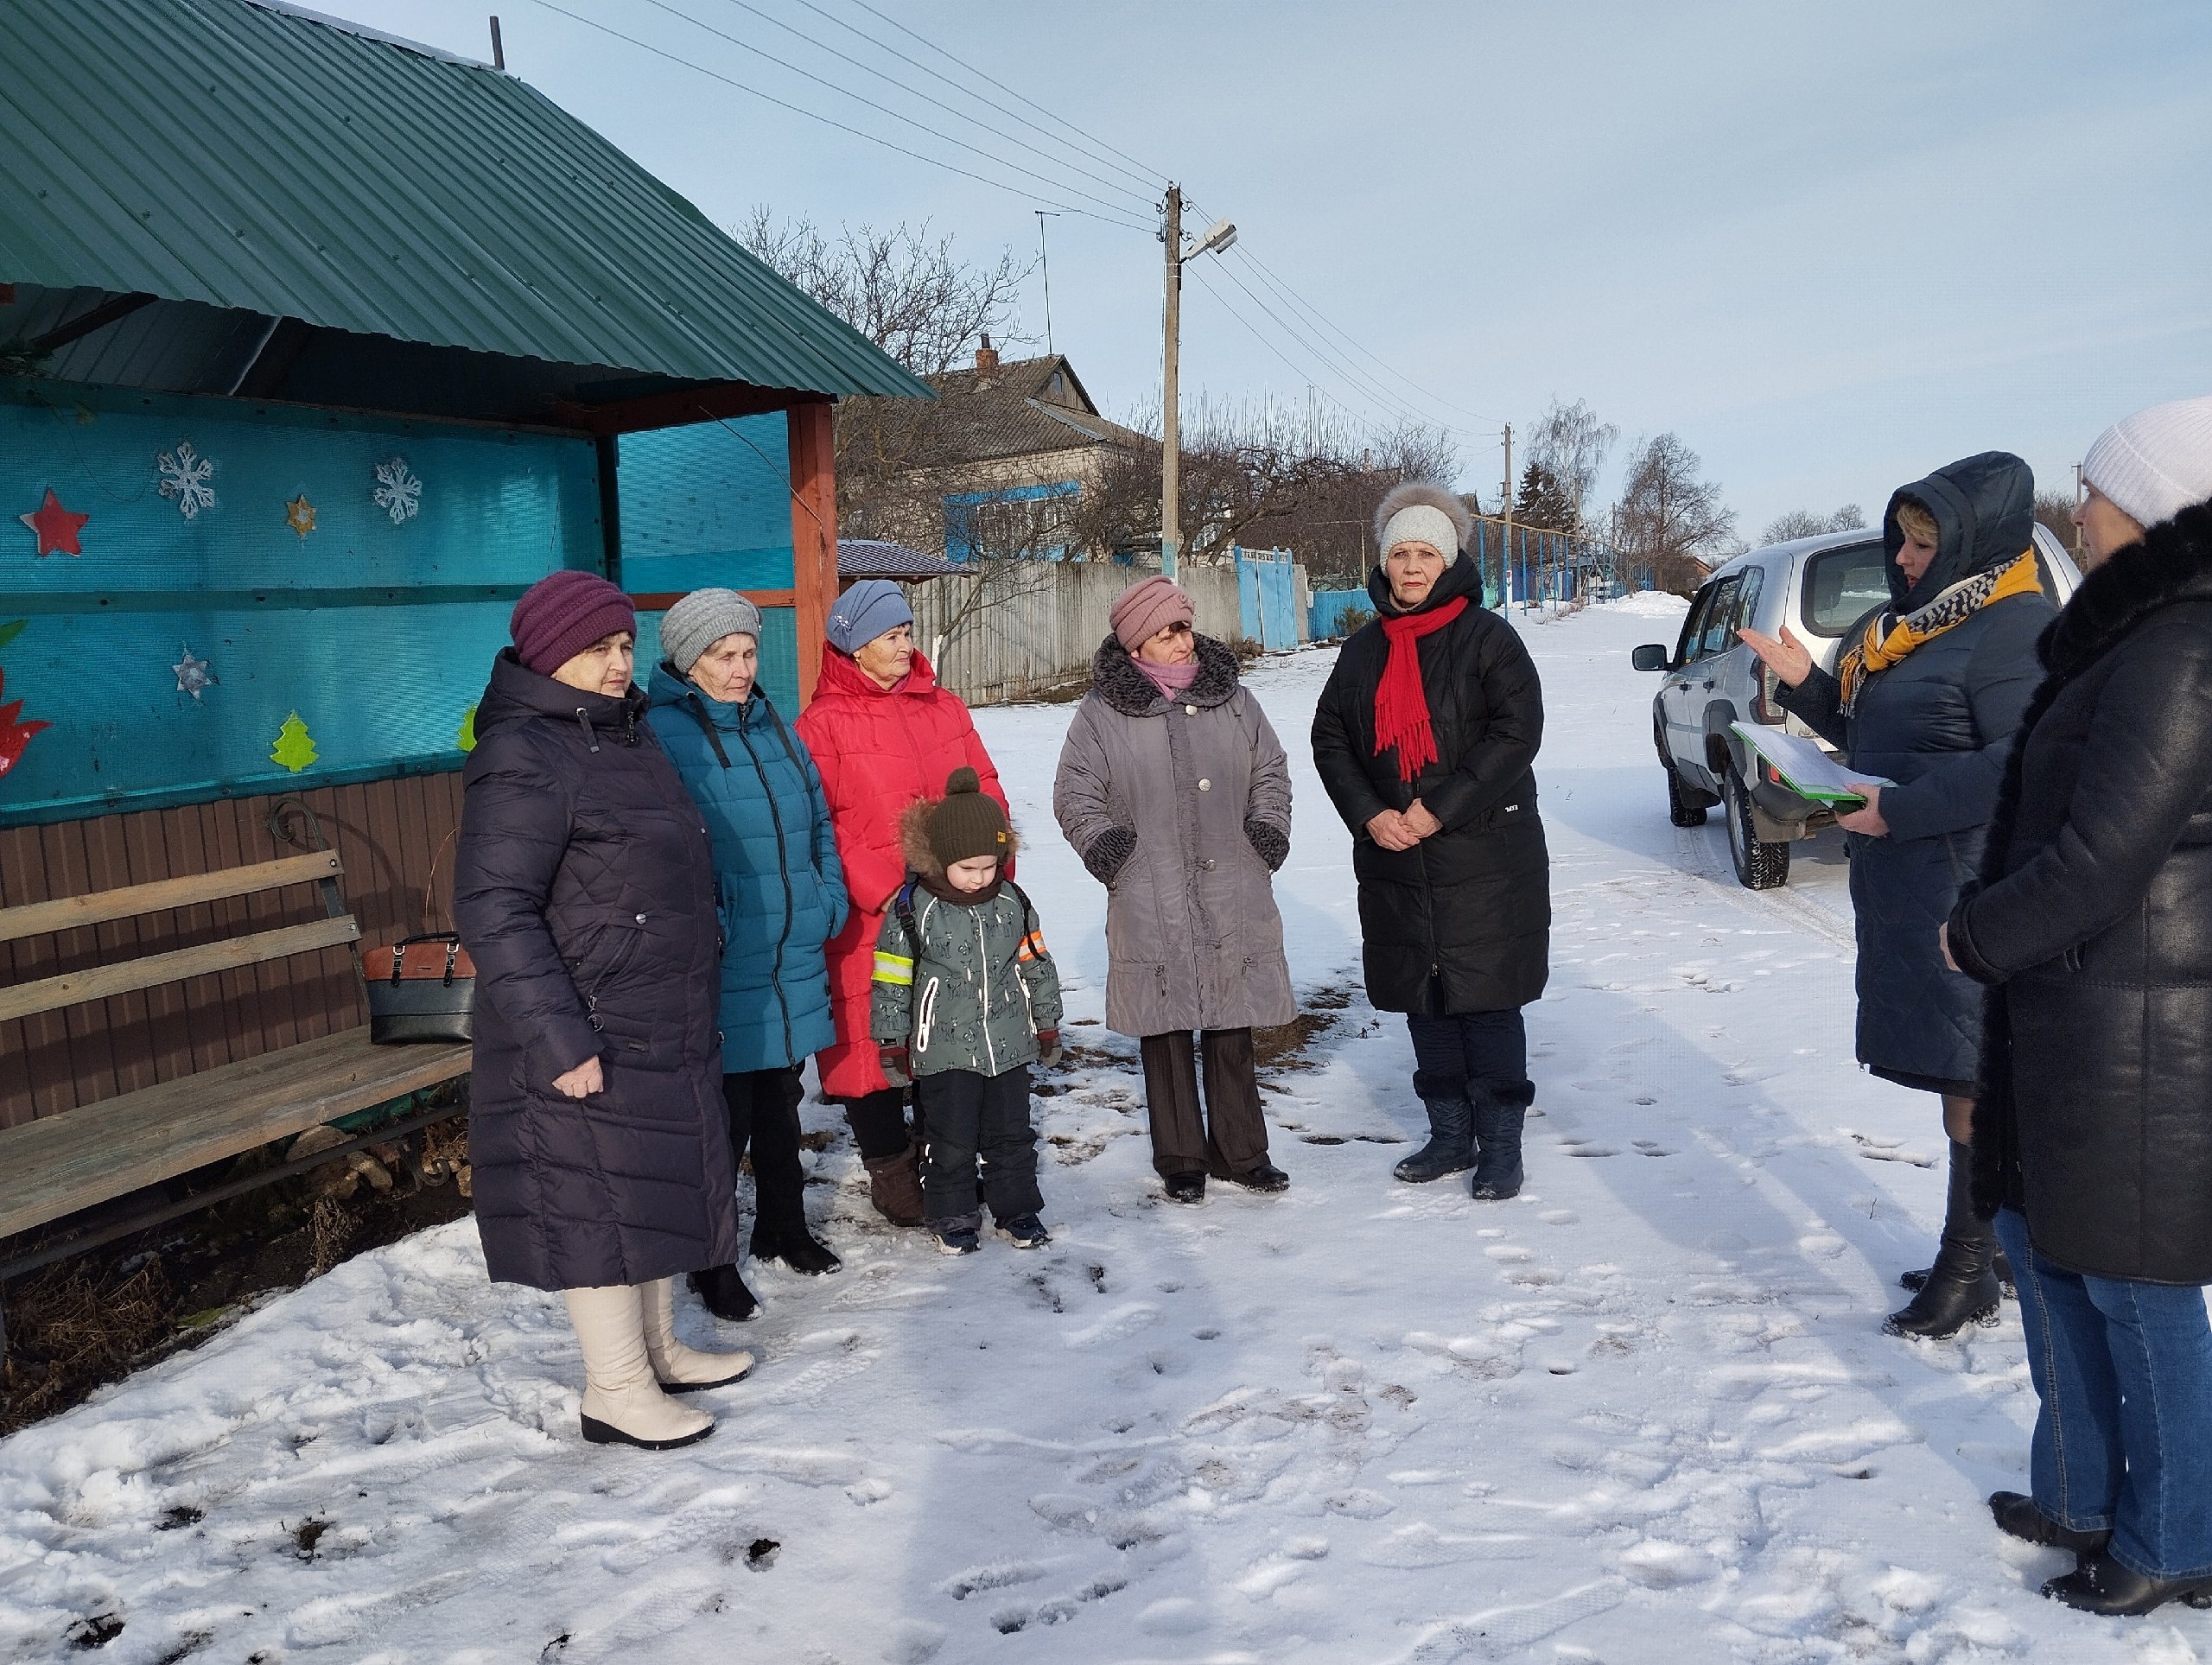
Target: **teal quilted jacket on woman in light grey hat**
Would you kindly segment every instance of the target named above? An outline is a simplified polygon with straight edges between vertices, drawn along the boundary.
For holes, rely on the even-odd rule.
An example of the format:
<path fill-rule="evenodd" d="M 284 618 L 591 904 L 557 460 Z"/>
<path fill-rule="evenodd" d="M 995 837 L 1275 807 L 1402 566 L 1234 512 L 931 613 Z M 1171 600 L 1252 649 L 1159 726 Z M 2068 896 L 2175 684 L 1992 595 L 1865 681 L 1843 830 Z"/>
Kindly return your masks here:
<path fill-rule="evenodd" d="M 803 1064 L 836 1039 L 823 944 L 847 909 L 821 774 L 768 694 L 708 699 L 661 661 L 650 697 L 646 721 L 714 845 L 721 1068 Z"/>

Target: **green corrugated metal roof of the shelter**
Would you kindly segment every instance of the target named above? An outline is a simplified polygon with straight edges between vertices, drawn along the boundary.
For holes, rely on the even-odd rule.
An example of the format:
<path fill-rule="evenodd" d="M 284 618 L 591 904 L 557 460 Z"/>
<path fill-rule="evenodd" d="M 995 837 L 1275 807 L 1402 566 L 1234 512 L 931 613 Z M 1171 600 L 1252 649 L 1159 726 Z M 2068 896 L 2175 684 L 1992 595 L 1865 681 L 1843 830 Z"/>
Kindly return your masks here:
<path fill-rule="evenodd" d="M 0 0 L 0 283 L 929 398 L 513 75 L 252 0 Z"/>

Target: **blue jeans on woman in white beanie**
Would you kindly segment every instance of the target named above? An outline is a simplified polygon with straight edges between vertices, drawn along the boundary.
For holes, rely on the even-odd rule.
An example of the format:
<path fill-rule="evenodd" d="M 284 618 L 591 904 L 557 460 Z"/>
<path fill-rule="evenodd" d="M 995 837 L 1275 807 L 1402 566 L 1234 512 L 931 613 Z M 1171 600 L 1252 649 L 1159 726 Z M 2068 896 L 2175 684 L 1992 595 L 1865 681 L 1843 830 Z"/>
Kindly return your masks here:
<path fill-rule="evenodd" d="M 2035 1508 L 2146 1579 L 2212 1577 L 2212 1324 L 2194 1285 L 2095 1278 L 2044 1260 L 2015 1210 L 1997 1240 L 2020 1285 L 2035 1380 Z"/>

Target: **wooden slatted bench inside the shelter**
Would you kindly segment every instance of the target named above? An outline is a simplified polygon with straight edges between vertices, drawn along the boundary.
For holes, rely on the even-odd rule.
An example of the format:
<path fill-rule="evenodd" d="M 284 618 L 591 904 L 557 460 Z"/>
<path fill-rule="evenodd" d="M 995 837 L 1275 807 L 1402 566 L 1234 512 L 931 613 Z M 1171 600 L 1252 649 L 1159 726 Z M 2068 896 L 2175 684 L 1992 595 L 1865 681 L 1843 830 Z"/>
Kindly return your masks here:
<path fill-rule="evenodd" d="M 228 902 L 288 884 L 316 884 L 325 911 L 325 918 L 307 924 L 285 924 L 0 986 L 0 1022 L 356 944 L 361 926 L 338 887 L 343 871 L 336 851 L 310 851 L 215 873 L 0 909 L 0 942 Z M 467 1072 L 467 1046 L 372 1046 L 363 1026 L 0 1128 L 0 1238 L 51 1225 L 77 1210 L 111 1203 Z M 307 1161 L 327 1161 L 332 1154 L 336 1152 L 325 1150 Z M 248 1190 L 283 1172 L 288 1170 L 257 1174 L 243 1185 L 221 1187 L 219 1194 Z M 159 1218 L 175 1218 L 208 1201 L 217 1201 L 217 1192 L 9 1260 L 0 1265 L 0 1278 L 144 1229 Z M 4 1336 L 0 1329 L 0 1349 Z"/>

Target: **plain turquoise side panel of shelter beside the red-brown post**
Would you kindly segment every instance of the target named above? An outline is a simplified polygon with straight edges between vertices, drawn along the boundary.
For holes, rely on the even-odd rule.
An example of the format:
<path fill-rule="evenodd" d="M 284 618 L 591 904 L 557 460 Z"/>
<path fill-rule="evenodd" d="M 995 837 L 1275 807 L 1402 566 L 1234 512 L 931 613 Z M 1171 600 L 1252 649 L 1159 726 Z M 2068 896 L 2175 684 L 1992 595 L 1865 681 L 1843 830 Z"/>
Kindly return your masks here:
<path fill-rule="evenodd" d="M 790 425 L 781 411 L 624 433 L 622 588 L 792 588 Z M 639 677 L 661 657 L 659 615 L 637 615 Z M 799 714 L 799 632 L 790 608 L 761 617 L 761 688 Z"/>

